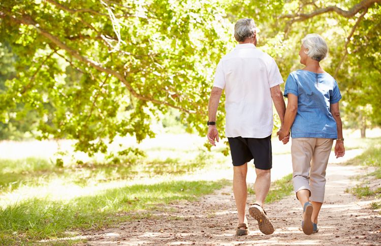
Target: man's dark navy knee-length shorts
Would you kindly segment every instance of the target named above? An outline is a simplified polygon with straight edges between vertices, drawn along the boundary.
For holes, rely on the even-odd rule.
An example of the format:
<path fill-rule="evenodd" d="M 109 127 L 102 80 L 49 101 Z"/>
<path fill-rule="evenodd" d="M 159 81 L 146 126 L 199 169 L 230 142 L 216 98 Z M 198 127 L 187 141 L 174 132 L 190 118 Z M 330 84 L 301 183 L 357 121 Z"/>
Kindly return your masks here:
<path fill-rule="evenodd" d="M 254 159 L 258 169 L 272 168 L 271 135 L 266 138 L 228 138 L 233 166 L 241 166 Z"/>

